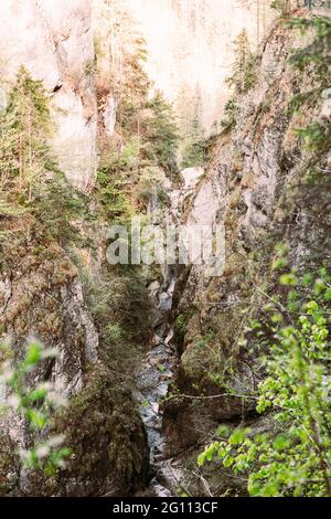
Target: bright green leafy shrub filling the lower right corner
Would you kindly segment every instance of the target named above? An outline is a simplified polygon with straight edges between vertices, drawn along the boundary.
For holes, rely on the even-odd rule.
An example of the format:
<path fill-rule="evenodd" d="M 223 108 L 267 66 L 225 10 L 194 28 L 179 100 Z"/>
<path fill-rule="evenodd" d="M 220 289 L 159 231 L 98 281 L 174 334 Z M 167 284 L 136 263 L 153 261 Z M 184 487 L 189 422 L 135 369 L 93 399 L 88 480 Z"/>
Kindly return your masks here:
<path fill-rule="evenodd" d="M 256 410 L 273 413 L 281 433 L 253 436 L 238 428 L 199 456 L 199 465 L 217 457 L 235 474 L 246 473 L 252 496 L 331 495 L 331 277 L 323 268 L 319 274 L 282 275 L 288 305 L 282 311 L 275 305 L 270 322 L 259 326 L 269 351 Z"/>

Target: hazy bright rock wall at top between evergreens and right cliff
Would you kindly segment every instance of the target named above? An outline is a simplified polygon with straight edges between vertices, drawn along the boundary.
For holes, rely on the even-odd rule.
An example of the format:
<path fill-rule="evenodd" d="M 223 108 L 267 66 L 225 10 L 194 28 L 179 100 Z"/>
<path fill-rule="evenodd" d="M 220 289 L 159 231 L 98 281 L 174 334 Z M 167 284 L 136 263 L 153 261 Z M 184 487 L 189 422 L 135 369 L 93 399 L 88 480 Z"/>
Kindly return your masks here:
<path fill-rule="evenodd" d="M 118 0 L 128 6 L 148 44 L 148 72 L 175 102 L 182 125 L 194 112 L 211 129 L 228 95 L 225 78 L 234 59 L 233 41 L 243 29 L 252 49 L 274 14 L 267 0 Z"/>

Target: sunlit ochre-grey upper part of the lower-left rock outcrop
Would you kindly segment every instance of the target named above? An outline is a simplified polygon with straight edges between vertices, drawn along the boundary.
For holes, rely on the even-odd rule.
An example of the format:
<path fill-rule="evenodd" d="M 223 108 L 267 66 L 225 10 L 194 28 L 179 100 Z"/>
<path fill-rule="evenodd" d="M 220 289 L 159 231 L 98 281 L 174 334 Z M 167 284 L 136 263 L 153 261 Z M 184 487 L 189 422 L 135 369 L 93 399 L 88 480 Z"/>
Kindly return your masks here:
<path fill-rule="evenodd" d="M 55 347 L 58 357 L 52 369 L 46 368 L 49 378 L 71 396 L 83 386 L 86 363 L 98 358 L 98 336 L 86 309 L 77 269 L 61 248 L 53 250 L 49 261 L 36 258 L 32 248 L 17 256 L 14 247 L 8 252 L 11 266 L 7 274 L 1 273 L 0 285 L 2 329 L 22 350 L 33 338 Z"/>

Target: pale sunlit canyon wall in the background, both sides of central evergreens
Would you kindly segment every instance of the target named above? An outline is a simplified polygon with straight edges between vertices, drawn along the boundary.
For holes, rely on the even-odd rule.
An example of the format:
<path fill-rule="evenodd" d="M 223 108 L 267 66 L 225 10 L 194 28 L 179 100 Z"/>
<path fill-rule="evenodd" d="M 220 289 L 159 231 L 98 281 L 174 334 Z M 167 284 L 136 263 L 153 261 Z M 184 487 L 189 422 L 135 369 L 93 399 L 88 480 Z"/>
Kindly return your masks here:
<path fill-rule="evenodd" d="M 115 19 L 116 10 L 127 11 L 137 38 L 146 39 L 148 75 L 153 88 L 174 103 L 181 128 L 188 129 L 197 114 L 210 131 L 228 96 L 225 78 L 233 63 L 233 40 L 245 28 L 256 47 L 273 18 L 266 4 L 246 0 L 3 0 L 0 86 L 6 91 L 21 65 L 43 81 L 52 99 L 55 157 L 73 186 L 88 191 L 98 161 L 94 35 L 110 39 L 111 45 L 111 24 L 122 24 L 122 19 Z M 111 134 L 116 100 L 110 97 L 108 102 Z"/>

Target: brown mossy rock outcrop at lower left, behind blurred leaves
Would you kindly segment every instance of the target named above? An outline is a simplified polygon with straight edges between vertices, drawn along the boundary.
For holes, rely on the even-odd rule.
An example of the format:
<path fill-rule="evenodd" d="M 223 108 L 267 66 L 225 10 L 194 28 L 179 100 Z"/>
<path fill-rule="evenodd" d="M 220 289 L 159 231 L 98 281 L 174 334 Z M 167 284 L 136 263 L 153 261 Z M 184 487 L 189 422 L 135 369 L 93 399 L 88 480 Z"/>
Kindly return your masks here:
<path fill-rule="evenodd" d="M 131 392 L 105 360 L 77 267 L 55 242 L 41 248 L 34 237 L 26 248 L 14 241 L 1 247 L 0 340 L 11 342 L 17 359 L 34 340 L 55 349 L 56 357 L 40 363 L 31 382 L 50 381 L 67 398 L 52 428 L 65 435 L 74 455 L 56 481 L 40 472 L 26 476 L 12 442 L 28 448 L 28 423 L 1 415 L 0 495 L 129 494 L 147 476 L 142 422 Z"/>

